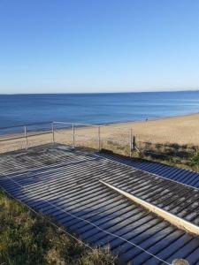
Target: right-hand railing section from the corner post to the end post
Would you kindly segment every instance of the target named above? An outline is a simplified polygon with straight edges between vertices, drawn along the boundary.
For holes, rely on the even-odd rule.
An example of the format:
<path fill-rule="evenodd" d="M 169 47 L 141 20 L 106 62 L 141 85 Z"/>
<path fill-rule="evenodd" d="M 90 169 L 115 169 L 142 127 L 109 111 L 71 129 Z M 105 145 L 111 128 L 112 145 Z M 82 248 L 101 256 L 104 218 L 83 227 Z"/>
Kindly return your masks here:
<path fill-rule="evenodd" d="M 125 155 L 132 154 L 133 133 L 130 128 L 64 122 L 54 122 L 53 128 L 56 143 L 73 148 L 108 149 Z"/>

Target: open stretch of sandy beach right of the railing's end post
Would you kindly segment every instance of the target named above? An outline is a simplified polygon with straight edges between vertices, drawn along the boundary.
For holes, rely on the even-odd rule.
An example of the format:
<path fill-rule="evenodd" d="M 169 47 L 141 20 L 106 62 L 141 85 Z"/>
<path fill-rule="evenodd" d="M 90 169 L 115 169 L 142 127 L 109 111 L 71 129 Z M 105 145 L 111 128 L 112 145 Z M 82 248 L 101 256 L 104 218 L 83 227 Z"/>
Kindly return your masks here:
<path fill-rule="evenodd" d="M 199 113 L 121 126 L 130 126 L 141 141 L 199 146 Z"/>

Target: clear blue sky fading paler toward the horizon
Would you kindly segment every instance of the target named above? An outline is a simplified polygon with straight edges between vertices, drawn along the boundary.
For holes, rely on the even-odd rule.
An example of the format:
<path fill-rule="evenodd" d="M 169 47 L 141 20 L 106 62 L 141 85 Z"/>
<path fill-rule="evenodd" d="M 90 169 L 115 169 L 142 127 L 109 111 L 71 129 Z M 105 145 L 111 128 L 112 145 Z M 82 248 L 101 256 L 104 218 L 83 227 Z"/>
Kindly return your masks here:
<path fill-rule="evenodd" d="M 198 88 L 198 0 L 0 1 L 1 94 Z"/>

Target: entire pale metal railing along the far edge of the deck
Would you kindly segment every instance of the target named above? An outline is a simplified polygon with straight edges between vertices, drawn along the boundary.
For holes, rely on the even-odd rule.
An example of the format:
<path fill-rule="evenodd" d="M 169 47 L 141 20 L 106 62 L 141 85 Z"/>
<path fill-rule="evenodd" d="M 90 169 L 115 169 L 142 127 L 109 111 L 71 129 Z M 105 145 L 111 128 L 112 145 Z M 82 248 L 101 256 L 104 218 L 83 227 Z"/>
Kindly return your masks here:
<path fill-rule="evenodd" d="M 107 133 L 108 131 L 109 133 Z M 28 149 L 45 143 L 66 144 L 73 148 L 126 148 L 132 155 L 131 128 L 117 125 L 89 125 L 81 123 L 46 122 L 0 128 L 0 151 Z"/>

